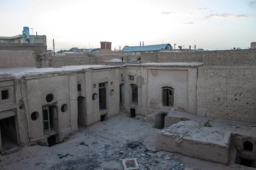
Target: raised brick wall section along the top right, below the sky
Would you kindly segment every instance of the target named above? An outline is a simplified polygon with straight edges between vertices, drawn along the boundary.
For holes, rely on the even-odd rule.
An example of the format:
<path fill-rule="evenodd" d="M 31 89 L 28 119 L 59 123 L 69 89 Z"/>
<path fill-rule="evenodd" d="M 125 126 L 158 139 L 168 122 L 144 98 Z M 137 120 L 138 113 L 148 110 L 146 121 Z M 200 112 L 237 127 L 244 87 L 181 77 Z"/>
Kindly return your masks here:
<path fill-rule="evenodd" d="M 204 66 L 255 66 L 256 50 L 204 51 Z"/>

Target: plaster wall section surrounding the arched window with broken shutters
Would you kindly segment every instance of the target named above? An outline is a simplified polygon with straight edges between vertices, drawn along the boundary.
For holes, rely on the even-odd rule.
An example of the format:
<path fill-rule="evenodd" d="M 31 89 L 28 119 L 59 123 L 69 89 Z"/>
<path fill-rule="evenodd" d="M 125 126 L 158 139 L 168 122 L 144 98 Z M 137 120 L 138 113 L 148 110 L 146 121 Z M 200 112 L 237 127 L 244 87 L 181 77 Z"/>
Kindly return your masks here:
<path fill-rule="evenodd" d="M 196 114 L 196 75 L 196 68 L 148 69 L 148 110 L 170 110 L 172 107 L 163 106 L 162 88 L 171 87 L 174 89 L 173 108 Z"/>

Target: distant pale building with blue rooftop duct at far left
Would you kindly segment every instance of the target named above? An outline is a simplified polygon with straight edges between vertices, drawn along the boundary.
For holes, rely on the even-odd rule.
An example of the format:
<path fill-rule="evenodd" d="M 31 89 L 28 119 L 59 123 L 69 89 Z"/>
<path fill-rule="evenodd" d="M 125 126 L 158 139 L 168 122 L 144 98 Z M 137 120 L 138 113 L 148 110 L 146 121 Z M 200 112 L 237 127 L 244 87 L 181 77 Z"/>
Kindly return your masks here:
<path fill-rule="evenodd" d="M 23 34 L 15 35 L 12 37 L 0 37 L 1 42 L 9 43 L 44 43 L 47 45 L 45 35 L 29 35 L 29 27 L 23 27 Z"/>

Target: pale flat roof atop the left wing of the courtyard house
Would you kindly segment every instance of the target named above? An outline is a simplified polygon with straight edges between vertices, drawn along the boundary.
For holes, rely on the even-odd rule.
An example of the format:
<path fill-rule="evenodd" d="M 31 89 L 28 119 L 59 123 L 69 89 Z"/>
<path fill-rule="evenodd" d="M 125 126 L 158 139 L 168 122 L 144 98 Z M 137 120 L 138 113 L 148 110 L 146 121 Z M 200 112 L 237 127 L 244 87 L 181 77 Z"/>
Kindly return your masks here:
<path fill-rule="evenodd" d="M 111 66 L 111 65 L 68 65 L 62 66 L 61 68 L 35 68 L 35 67 L 16 67 L 16 68 L 1 68 L 0 76 L 15 76 L 17 78 L 23 76 L 35 76 L 40 74 L 54 74 L 60 72 L 68 72 L 68 71 L 83 71 L 90 69 L 102 69 L 102 68 L 114 68 L 119 66 Z"/>

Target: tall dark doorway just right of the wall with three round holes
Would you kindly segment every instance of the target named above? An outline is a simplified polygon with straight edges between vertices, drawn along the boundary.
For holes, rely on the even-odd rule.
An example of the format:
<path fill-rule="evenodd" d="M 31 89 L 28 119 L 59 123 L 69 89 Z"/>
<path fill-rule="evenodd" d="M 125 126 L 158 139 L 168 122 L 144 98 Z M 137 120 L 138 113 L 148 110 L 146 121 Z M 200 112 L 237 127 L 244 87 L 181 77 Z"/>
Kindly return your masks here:
<path fill-rule="evenodd" d="M 77 123 L 78 125 L 85 125 L 86 118 L 86 100 L 85 97 L 77 97 Z"/>

